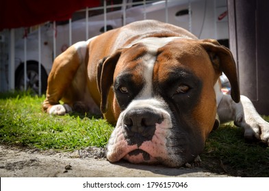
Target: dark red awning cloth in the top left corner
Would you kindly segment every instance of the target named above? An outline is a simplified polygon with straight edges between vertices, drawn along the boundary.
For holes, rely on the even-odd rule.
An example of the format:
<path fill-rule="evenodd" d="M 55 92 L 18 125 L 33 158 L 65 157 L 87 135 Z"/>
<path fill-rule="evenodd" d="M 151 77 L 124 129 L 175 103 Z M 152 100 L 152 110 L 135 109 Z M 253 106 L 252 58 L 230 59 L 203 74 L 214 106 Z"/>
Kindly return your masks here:
<path fill-rule="evenodd" d="M 68 20 L 73 12 L 101 5 L 99 0 L 3 0 L 0 31 L 30 27 L 52 20 Z"/>

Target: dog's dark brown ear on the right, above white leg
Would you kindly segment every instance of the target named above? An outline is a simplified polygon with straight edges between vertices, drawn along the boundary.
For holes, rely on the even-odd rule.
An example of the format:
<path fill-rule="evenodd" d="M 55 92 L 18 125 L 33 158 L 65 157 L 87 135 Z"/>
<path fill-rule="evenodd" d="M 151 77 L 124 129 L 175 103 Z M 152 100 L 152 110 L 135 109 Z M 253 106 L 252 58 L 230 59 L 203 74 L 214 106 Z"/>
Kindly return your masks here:
<path fill-rule="evenodd" d="M 231 51 L 225 46 L 221 46 L 216 40 L 202 40 L 202 46 L 207 51 L 214 69 L 217 73 L 225 73 L 231 84 L 231 98 L 236 103 L 240 102 L 240 89 L 236 65 Z"/>

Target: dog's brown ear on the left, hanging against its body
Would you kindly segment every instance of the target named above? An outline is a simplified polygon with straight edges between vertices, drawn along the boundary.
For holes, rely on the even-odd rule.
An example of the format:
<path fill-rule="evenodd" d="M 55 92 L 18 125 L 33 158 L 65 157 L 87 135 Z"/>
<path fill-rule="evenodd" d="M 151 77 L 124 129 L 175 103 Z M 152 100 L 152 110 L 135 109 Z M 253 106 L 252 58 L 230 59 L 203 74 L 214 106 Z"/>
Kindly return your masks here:
<path fill-rule="evenodd" d="M 110 88 L 113 84 L 114 70 L 118 59 L 120 58 L 121 49 L 109 56 L 101 59 L 97 65 L 97 85 L 101 95 L 101 112 L 107 112 L 107 98 Z"/>

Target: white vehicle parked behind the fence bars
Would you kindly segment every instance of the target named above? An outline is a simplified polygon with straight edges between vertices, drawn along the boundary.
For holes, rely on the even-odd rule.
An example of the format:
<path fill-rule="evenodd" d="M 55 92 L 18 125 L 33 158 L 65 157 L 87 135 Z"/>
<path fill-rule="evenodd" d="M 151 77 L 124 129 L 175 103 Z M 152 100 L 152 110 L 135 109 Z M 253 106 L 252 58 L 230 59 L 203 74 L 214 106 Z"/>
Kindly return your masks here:
<path fill-rule="evenodd" d="M 123 0 L 124 1 L 124 0 Z M 162 22 L 168 22 L 185 29 L 191 29 L 198 38 L 215 38 L 217 40 L 228 40 L 228 23 L 227 16 L 218 20 L 218 16 L 227 11 L 226 1 L 216 0 L 181 0 L 167 1 L 166 18 L 166 1 L 154 1 L 143 4 L 130 5 L 134 1 L 124 1 L 123 5 L 118 6 L 118 10 L 110 8 L 106 15 L 106 28 L 115 29 L 136 20 L 155 19 Z M 122 1 L 118 2 L 121 3 Z M 124 14 L 124 11 L 125 14 Z M 191 10 L 191 14 L 189 14 Z M 84 18 L 81 18 L 81 14 Z M 40 27 L 40 63 L 41 63 L 41 91 L 44 93 L 47 89 L 47 76 L 51 71 L 53 64 L 53 55 L 60 55 L 70 44 L 87 40 L 104 31 L 104 14 L 103 10 L 93 10 L 89 12 L 88 23 L 85 18 L 86 12 L 77 12 L 73 16 L 71 23 L 70 42 L 68 22 L 58 24 L 56 28 L 53 23 L 47 23 Z M 93 16 L 91 16 L 93 15 Z M 123 16 L 125 15 L 125 16 Z M 81 19 L 79 19 L 81 18 Z M 191 19 L 190 19 L 191 18 Z M 166 20 L 167 19 L 167 20 Z M 191 20 L 191 22 L 190 22 Z M 88 35 L 86 35 L 88 27 Z M 56 52 L 53 53 L 53 35 L 55 35 Z M 24 40 L 19 40 L 15 46 L 16 57 L 16 79 L 15 86 L 17 89 L 24 89 L 24 70 L 25 61 Z M 27 35 L 27 88 L 34 89 L 38 92 L 38 30 Z"/>

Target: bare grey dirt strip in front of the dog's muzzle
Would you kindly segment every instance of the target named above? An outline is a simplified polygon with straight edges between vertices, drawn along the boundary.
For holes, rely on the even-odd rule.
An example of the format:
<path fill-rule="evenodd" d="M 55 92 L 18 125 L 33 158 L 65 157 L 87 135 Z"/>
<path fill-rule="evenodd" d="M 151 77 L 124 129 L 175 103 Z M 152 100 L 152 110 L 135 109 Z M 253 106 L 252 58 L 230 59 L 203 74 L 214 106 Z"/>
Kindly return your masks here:
<path fill-rule="evenodd" d="M 97 147 L 56 152 L 0 145 L 0 177 L 227 177 L 189 167 L 112 164 Z"/>

